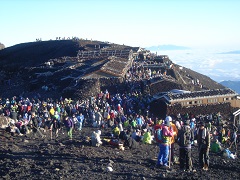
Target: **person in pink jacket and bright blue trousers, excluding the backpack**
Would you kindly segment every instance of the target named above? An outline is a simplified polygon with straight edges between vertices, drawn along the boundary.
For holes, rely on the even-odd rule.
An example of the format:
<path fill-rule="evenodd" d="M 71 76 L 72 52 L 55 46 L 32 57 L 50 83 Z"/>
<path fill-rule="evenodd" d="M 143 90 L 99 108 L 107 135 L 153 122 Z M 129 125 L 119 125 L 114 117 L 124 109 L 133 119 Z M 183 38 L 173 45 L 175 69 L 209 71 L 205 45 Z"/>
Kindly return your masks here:
<path fill-rule="evenodd" d="M 170 137 L 173 136 L 173 130 L 170 126 L 168 119 L 164 121 L 162 126 L 162 142 L 159 142 L 159 154 L 157 166 L 163 166 L 168 168 L 168 156 L 169 156 L 169 146 L 170 146 Z"/>

